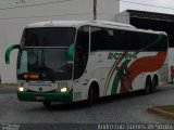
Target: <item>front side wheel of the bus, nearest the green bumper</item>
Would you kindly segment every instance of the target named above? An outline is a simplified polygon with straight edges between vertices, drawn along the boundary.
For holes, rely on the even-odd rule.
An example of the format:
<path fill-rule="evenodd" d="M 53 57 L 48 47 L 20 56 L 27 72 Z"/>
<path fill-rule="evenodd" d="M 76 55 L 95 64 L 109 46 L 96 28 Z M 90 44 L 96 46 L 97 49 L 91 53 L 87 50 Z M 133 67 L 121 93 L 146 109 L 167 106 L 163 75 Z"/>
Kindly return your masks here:
<path fill-rule="evenodd" d="M 92 87 L 89 88 L 87 105 L 92 106 L 95 103 L 95 90 Z"/>

